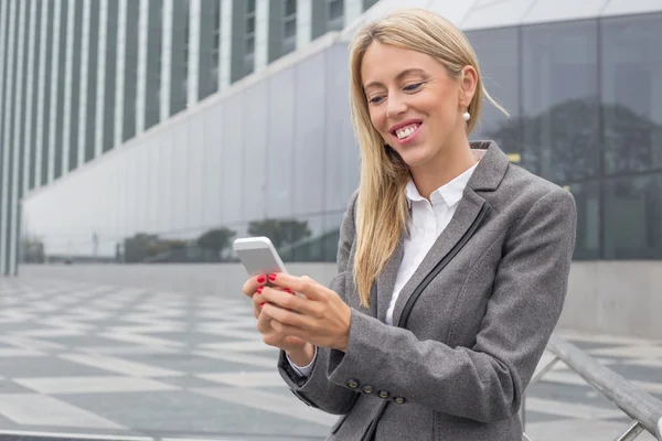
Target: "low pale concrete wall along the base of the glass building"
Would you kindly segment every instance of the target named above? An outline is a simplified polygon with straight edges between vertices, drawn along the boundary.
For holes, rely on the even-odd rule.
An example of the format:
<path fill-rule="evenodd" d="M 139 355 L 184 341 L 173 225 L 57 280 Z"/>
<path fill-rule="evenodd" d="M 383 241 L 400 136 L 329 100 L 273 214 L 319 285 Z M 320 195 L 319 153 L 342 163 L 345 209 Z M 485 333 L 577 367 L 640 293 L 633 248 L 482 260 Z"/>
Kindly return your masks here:
<path fill-rule="evenodd" d="M 288 270 L 322 283 L 335 275 L 330 263 L 290 263 Z M 239 265 L 24 265 L 20 277 L 228 298 L 243 295 L 246 280 Z M 559 327 L 662 340 L 662 261 L 574 262 Z"/>

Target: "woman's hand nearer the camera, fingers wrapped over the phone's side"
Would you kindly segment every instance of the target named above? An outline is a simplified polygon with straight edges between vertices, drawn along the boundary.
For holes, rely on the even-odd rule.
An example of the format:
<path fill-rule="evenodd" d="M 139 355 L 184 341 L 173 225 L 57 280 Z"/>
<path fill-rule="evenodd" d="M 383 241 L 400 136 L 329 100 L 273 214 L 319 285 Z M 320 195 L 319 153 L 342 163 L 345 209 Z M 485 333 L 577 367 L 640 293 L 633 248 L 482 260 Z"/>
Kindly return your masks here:
<path fill-rule="evenodd" d="M 307 276 L 278 272 L 268 278 L 273 284 L 306 295 L 292 295 L 269 287 L 263 289 L 267 303 L 261 313 L 271 318 L 274 330 L 316 346 L 346 352 L 352 310 L 335 291 Z"/>

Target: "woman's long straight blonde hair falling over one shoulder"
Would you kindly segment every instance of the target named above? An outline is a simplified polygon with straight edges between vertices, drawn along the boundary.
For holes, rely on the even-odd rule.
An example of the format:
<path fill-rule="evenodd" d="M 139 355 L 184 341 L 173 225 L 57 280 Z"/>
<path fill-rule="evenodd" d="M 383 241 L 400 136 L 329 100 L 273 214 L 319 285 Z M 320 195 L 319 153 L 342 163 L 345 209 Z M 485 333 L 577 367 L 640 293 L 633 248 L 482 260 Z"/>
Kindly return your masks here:
<path fill-rule="evenodd" d="M 467 133 L 471 132 L 480 118 L 483 97 L 505 112 L 485 90 L 476 53 L 465 34 L 437 13 L 423 9 L 401 10 L 357 31 L 350 53 L 352 123 L 361 150 L 353 277 L 361 304 L 366 308 L 370 306 L 372 283 L 406 229 L 408 207 L 405 186 L 410 178 L 407 164 L 393 149 L 384 146 L 382 136 L 370 118 L 361 63 L 374 41 L 430 55 L 444 64 L 451 78 L 459 79 L 465 66 L 473 66 L 478 83 L 467 108 L 471 114 Z"/>

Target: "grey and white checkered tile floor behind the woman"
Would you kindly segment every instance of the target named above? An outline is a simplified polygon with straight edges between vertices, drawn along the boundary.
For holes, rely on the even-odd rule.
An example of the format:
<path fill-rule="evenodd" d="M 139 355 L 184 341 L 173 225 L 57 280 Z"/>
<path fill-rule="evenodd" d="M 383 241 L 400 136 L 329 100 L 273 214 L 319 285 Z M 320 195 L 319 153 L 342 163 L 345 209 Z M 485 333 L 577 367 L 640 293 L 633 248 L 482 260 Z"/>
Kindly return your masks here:
<path fill-rule="evenodd" d="M 662 399 L 662 342 L 562 335 Z M 276 357 L 241 293 L 0 279 L 0 435 L 324 439 L 335 417 L 299 402 Z M 567 367 L 544 378 L 526 401 L 535 439 L 577 421 L 624 430 L 628 419 Z"/>

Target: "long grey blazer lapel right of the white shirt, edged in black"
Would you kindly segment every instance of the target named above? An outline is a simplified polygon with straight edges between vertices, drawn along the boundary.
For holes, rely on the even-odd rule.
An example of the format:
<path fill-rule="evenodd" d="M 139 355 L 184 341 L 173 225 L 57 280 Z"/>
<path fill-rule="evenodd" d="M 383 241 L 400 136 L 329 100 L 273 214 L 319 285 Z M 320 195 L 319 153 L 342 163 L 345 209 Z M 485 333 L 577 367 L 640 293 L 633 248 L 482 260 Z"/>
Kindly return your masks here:
<path fill-rule="evenodd" d="M 403 309 L 409 300 L 409 297 L 414 293 L 414 290 L 423 281 L 423 279 L 433 270 L 437 262 L 455 247 L 455 245 L 462 238 L 465 233 L 471 227 L 473 220 L 476 220 L 480 209 L 482 208 L 485 200 L 480 197 L 471 189 L 467 189 L 462 200 L 458 203 L 458 208 L 452 216 L 452 219 L 439 235 L 430 250 L 427 252 L 409 281 L 403 287 L 395 309 L 393 311 L 393 324 L 397 325 L 403 313 Z M 393 291 L 393 290 L 392 290 Z M 386 295 L 381 295 L 386 297 Z M 389 297 L 388 297 L 389 298 Z M 388 300 L 386 300 L 388 302 Z"/>

